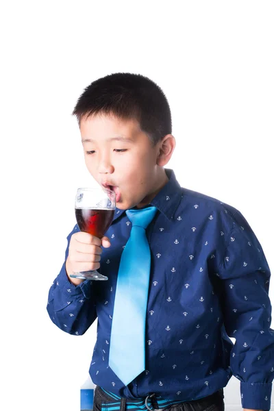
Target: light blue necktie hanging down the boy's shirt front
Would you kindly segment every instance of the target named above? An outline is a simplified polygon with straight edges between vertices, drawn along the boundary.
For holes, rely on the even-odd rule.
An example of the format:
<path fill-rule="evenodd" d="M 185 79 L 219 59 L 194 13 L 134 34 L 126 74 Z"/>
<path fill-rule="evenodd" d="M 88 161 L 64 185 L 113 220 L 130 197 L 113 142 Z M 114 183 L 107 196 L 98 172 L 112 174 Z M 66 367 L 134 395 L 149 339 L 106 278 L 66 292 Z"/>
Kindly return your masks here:
<path fill-rule="evenodd" d="M 151 255 L 145 229 L 157 208 L 127 210 L 132 231 L 121 256 L 116 285 L 109 366 L 127 386 L 145 370 L 145 323 Z"/>

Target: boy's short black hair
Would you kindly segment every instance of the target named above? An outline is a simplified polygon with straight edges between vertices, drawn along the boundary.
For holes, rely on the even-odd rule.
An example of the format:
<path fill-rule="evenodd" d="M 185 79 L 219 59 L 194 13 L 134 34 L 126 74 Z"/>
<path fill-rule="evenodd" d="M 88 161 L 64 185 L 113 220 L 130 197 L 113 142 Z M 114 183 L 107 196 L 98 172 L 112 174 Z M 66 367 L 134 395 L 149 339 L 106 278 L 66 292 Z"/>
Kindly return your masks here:
<path fill-rule="evenodd" d="M 140 74 L 114 73 L 101 77 L 84 89 L 72 115 L 81 120 L 96 114 L 122 120 L 136 119 L 152 145 L 171 134 L 171 110 L 162 89 Z"/>

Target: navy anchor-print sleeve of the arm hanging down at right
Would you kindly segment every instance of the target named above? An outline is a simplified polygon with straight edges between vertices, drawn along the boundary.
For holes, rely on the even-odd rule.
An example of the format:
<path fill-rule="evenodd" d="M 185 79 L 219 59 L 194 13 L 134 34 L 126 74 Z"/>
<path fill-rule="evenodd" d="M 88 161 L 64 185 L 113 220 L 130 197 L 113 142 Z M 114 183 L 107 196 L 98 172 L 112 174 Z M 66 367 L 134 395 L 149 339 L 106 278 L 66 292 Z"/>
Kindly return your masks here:
<path fill-rule="evenodd" d="M 230 368 L 240 380 L 242 408 L 270 410 L 274 378 L 271 272 L 245 217 L 236 210 L 232 216 L 226 214 L 226 219 L 229 234 L 216 275 L 220 279 L 225 330 L 236 339 Z"/>

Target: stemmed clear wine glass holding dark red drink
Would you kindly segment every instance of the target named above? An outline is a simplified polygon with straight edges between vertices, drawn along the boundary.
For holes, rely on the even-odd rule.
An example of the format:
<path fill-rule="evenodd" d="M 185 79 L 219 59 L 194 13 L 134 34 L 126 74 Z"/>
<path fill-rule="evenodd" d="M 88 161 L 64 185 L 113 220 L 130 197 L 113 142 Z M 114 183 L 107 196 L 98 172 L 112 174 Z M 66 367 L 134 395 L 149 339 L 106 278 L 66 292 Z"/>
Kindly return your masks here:
<path fill-rule="evenodd" d="M 78 188 L 75 198 L 75 216 L 79 229 L 102 238 L 112 223 L 116 207 L 115 192 L 104 188 Z M 73 273 L 73 278 L 108 279 L 97 270 Z"/>

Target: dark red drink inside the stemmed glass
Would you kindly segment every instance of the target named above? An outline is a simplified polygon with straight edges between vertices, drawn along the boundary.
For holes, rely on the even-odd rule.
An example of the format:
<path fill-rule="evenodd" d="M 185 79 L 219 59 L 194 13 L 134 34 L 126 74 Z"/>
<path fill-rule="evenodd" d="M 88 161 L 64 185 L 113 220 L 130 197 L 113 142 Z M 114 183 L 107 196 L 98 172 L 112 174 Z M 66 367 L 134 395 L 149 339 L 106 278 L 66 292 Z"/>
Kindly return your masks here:
<path fill-rule="evenodd" d="M 112 223 L 114 210 L 75 208 L 75 215 L 82 232 L 102 238 Z"/>

